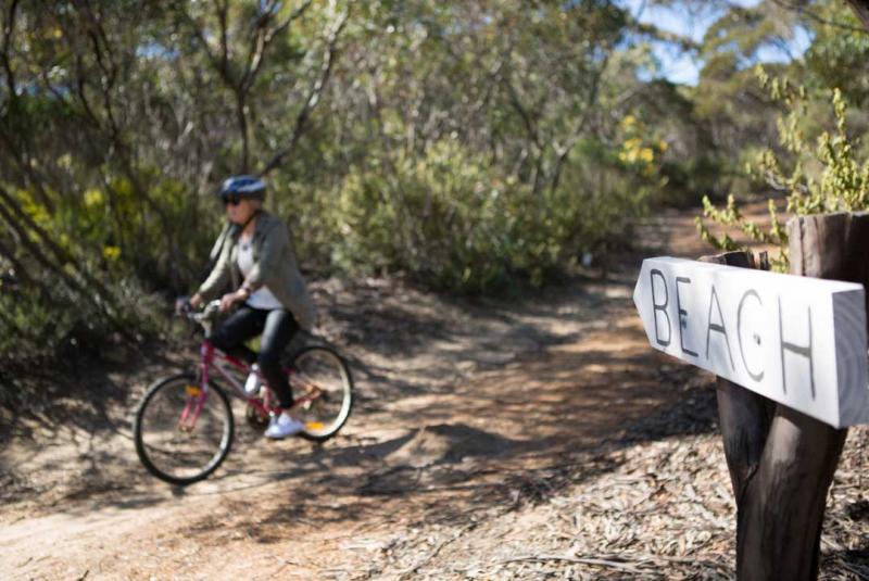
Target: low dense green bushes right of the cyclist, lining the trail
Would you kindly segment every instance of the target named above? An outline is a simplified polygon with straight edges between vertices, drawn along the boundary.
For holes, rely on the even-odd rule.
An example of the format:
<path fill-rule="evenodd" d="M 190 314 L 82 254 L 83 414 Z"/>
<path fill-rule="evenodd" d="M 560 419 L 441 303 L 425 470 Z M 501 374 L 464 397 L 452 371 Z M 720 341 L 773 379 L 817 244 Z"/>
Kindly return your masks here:
<path fill-rule="evenodd" d="M 642 194 L 575 190 L 584 177 L 577 163 L 559 188 L 536 194 L 452 139 L 387 165 L 354 167 L 339 192 L 332 261 L 345 270 L 404 270 L 463 292 L 516 277 L 540 285 L 642 207 Z"/>

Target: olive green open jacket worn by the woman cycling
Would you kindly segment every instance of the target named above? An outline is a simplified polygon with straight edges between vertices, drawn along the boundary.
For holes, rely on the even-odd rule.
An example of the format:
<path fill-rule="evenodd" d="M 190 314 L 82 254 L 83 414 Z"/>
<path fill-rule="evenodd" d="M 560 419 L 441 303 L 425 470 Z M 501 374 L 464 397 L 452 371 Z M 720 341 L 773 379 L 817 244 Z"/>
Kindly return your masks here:
<path fill-rule="evenodd" d="M 311 330 L 316 323 L 316 310 L 299 271 L 287 225 L 280 218 L 260 211 L 252 239 L 254 264 L 243 281 L 238 267 L 240 235 L 241 227 L 236 224 L 227 223 L 224 227 L 211 251 L 212 258 L 216 257 L 217 262 L 199 288 L 199 294 L 211 301 L 227 288 L 240 288 L 242 282 L 251 291 L 265 286 L 292 313 L 301 328 Z"/>

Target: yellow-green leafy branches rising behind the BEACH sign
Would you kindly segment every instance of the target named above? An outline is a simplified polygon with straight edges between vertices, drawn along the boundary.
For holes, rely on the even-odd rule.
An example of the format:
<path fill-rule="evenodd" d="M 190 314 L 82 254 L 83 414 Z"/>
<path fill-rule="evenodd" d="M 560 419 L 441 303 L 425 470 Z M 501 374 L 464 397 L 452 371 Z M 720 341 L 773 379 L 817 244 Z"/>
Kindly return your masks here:
<path fill-rule="evenodd" d="M 847 103 L 839 89 L 830 97 L 835 128 L 823 130 L 809 140 L 802 128 L 806 116 L 808 93 L 803 86 L 795 86 L 786 78 L 772 78 L 758 67 L 758 78 L 770 96 L 782 102 L 786 115 L 779 118 L 779 141 L 795 160 L 786 170 L 780 156 L 767 149 L 757 155 L 748 172 L 761 177 L 767 185 L 788 195 L 788 212 L 795 216 L 832 212 L 857 212 L 869 207 L 869 159 L 859 161 L 857 143 L 846 131 Z M 764 230 L 745 219 L 740 213 L 733 195 L 728 198 L 723 210 L 716 209 L 704 198 L 703 218 L 736 227 L 751 240 L 774 244 L 780 255 L 774 266 L 788 266 L 788 235 L 776 213 L 773 200 L 769 200 L 771 226 Z M 703 218 L 697 218 L 701 237 L 721 250 L 743 250 L 728 235 L 714 236 Z"/>

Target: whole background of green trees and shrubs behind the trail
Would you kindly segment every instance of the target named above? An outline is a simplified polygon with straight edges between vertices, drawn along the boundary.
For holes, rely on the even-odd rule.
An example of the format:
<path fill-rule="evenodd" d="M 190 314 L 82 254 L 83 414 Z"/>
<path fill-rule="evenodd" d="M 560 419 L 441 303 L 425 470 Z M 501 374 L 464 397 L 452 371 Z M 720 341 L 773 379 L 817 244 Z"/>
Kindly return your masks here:
<path fill-rule="evenodd" d="M 813 4 L 835 17 L 832 0 Z M 841 128 L 808 155 L 799 134 L 827 118 L 815 93 L 779 128 L 772 81 L 750 71 L 764 47 L 817 23 L 780 2 L 720 4 L 696 45 L 621 5 L 9 3 L 0 324 L 13 332 L 0 332 L 0 359 L 152 328 L 153 308 L 131 305 L 201 280 L 224 219 L 213 191 L 241 172 L 274 166 L 267 207 L 291 225 L 306 275 L 401 271 L 470 293 L 542 285 L 628 243 L 650 207 L 748 179 L 802 192 L 805 211 L 865 203 L 862 151 L 844 127 L 869 119 L 836 105 Z M 865 38 L 815 31 L 805 65 L 777 71 L 815 91 L 837 74 L 831 59 L 861 103 Z M 648 78 L 662 39 L 697 51 L 698 87 Z M 779 130 L 757 170 L 736 176 Z M 717 212 L 742 223 L 734 204 Z"/>

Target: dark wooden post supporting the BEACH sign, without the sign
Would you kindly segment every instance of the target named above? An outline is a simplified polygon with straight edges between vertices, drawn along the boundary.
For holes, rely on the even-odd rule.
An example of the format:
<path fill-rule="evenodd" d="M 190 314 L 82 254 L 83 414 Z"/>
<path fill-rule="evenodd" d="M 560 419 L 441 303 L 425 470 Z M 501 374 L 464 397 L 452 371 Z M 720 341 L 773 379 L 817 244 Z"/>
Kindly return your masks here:
<path fill-rule="evenodd" d="M 869 287 L 869 214 L 797 217 L 788 229 L 792 274 Z M 746 253 L 705 260 L 754 266 Z M 738 579 L 817 579 L 827 493 L 847 429 L 721 378 L 717 395 L 736 498 Z"/>

